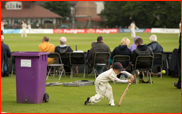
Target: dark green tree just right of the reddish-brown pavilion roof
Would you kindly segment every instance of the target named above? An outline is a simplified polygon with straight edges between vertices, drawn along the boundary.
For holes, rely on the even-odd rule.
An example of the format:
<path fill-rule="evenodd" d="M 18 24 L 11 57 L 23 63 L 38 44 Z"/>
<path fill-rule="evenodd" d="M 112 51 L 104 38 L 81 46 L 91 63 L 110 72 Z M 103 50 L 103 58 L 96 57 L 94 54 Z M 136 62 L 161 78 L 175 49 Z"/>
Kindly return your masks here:
<path fill-rule="evenodd" d="M 50 11 L 62 16 L 63 18 L 70 16 L 70 8 L 68 1 L 48 1 L 44 7 Z"/>

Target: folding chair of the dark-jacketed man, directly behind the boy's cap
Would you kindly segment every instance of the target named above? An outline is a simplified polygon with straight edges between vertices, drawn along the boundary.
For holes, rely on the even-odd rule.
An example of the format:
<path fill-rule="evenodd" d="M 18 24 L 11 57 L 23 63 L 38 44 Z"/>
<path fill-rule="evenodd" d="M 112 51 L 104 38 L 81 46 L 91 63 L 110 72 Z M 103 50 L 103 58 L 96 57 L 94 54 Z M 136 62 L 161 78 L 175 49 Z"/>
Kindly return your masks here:
<path fill-rule="evenodd" d="M 110 64 L 109 64 L 110 55 L 111 55 L 110 52 L 97 52 L 97 53 L 95 53 L 94 63 L 92 66 L 92 72 L 90 73 L 90 75 L 94 74 L 95 78 L 96 78 L 96 72 L 97 71 L 95 69 L 95 66 L 101 66 L 101 67 L 104 66 L 104 67 L 107 67 L 107 69 L 108 69 L 110 66 Z M 107 59 L 107 61 L 103 61 L 105 58 Z"/>

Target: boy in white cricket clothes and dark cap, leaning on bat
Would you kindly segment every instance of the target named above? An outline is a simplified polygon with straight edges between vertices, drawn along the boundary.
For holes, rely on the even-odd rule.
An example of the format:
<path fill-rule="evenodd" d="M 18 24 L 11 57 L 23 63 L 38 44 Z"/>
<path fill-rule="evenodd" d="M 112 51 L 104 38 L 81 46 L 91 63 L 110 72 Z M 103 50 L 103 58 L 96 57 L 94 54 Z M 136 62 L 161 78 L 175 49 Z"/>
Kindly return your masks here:
<path fill-rule="evenodd" d="M 124 73 L 126 75 L 128 75 L 128 77 L 131 77 L 131 80 L 120 80 L 119 78 L 117 78 L 117 75 L 120 73 Z M 88 97 L 87 100 L 85 101 L 85 105 L 91 103 L 97 103 L 99 101 L 101 101 L 104 96 L 107 97 L 107 99 L 109 100 L 109 105 L 110 106 L 115 106 L 114 104 L 114 98 L 113 98 L 113 93 L 112 93 L 112 87 L 111 85 L 108 83 L 109 81 L 117 81 L 117 82 L 129 82 L 132 83 L 132 81 L 134 80 L 133 75 L 131 75 L 130 73 L 126 72 L 125 69 L 123 68 L 122 64 L 120 62 L 115 62 L 113 64 L 113 68 L 103 72 L 102 74 L 100 74 L 96 80 L 95 80 L 95 90 L 96 90 L 96 95 L 92 96 L 91 98 Z"/>

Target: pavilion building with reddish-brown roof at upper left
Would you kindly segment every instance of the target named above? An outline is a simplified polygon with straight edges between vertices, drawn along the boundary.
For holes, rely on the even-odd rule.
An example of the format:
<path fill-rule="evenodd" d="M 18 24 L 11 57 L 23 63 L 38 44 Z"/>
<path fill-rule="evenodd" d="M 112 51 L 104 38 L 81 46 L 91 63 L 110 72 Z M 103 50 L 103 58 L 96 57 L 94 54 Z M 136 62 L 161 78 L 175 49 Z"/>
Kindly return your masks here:
<path fill-rule="evenodd" d="M 51 12 L 33 1 L 2 1 L 1 21 L 6 25 L 20 25 L 22 21 L 32 25 L 59 24 L 62 16 Z"/>

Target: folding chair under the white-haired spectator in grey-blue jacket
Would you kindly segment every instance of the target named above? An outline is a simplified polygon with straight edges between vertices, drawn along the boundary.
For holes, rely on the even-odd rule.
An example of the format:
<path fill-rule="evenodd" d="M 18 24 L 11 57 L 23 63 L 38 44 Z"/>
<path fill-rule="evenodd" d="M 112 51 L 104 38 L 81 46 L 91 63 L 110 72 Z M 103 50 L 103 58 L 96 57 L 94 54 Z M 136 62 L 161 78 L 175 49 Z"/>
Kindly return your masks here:
<path fill-rule="evenodd" d="M 155 64 L 156 62 L 159 62 L 159 64 Z M 161 71 L 163 68 L 163 55 L 161 53 L 154 53 L 154 63 L 153 63 L 153 67 L 160 67 Z M 160 78 L 162 78 L 162 73 Z"/>

